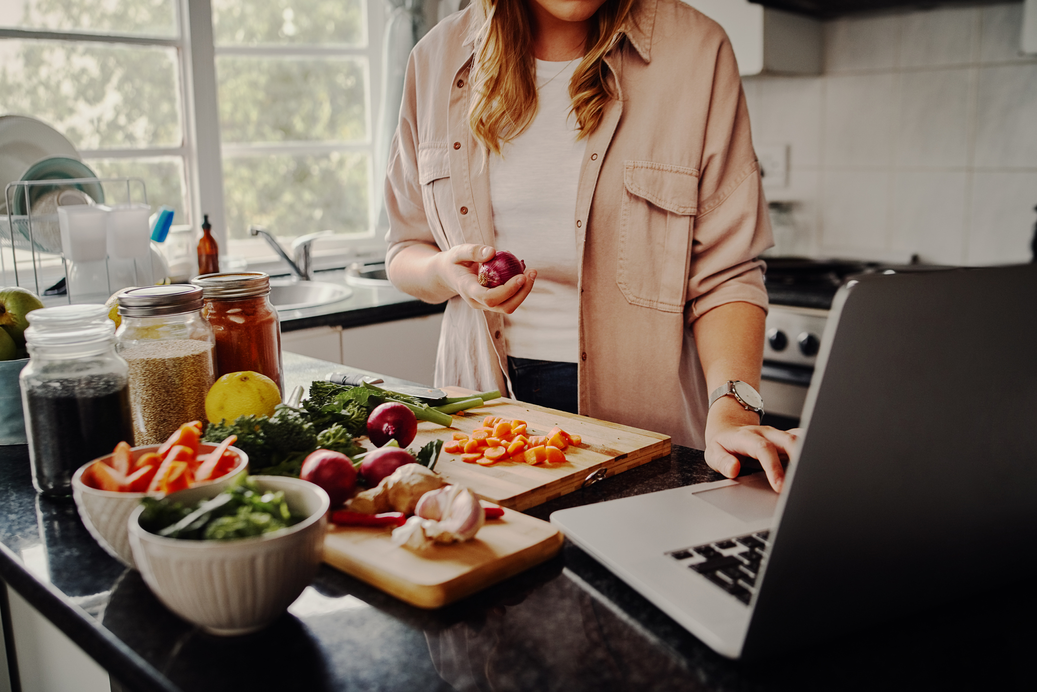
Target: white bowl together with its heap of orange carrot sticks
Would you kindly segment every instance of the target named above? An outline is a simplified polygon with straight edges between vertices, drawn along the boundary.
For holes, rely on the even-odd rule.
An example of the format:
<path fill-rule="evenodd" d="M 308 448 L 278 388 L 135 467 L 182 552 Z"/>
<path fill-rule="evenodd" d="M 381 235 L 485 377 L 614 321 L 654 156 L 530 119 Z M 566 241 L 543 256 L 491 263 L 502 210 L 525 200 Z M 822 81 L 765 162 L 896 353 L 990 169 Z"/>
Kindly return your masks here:
<path fill-rule="evenodd" d="M 163 497 L 195 486 L 230 485 L 248 469 L 249 458 L 232 446 L 201 442 L 201 423 L 185 423 L 161 445 L 115 446 L 111 454 L 83 465 L 72 493 L 83 524 L 105 551 L 136 569 L 127 521 L 145 496 Z"/>

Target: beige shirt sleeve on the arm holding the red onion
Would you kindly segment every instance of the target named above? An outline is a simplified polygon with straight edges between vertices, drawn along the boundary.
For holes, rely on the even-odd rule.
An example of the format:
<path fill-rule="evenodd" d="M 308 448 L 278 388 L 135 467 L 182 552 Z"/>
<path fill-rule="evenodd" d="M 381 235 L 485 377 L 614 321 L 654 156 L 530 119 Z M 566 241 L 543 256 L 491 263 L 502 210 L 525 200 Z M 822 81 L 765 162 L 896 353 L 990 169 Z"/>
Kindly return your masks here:
<path fill-rule="evenodd" d="M 425 215 L 418 179 L 418 114 L 414 53 L 407 64 L 403 100 L 399 109 L 399 126 L 389 149 L 386 168 L 385 200 L 389 216 L 386 242 L 386 267 L 397 252 L 417 243 L 436 246 L 432 230 Z"/>

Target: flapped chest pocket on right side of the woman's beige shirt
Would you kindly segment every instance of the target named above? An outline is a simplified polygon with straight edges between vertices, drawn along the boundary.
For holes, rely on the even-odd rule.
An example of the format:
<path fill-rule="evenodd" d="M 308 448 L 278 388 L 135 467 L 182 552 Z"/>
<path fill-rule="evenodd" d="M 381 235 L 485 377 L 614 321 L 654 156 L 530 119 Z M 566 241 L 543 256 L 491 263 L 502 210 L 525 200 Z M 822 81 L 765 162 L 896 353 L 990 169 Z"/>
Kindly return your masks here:
<path fill-rule="evenodd" d="M 624 162 L 616 284 L 630 304 L 683 311 L 698 195 L 694 168 Z"/>

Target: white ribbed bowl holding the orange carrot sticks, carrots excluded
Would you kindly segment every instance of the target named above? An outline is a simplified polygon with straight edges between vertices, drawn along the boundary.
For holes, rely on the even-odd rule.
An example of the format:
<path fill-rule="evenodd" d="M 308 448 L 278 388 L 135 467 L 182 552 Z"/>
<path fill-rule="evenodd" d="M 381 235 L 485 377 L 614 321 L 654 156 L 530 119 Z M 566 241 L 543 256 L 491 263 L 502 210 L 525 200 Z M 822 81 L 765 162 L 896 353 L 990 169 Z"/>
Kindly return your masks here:
<path fill-rule="evenodd" d="M 152 444 L 143 447 L 134 447 L 132 450 L 133 460 L 136 462 L 141 455 L 149 451 L 155 451 L 161 445 Z M 219 445 L 202 442 L 198 445 L 201 453 L 213 451 Z M 216 493 L 222 492 L 233 479 L 244 473 L 249 466 L 249 456 L 237 447 L 230 447 L 237 453 L 239 462 L 229 473 L 214 480 L 204 480 L 196 488 L 216 488 Z M 107 462 L 111 454 L 106 454 L 93 462 Z M 101 544 L 105 551 L 117 559 L 122 564 L 137 569 L 133 560 L 133 551 L 130 549 L 130 536 L 127 534 L 127 519 L 133 510 L 140 505 L 141 498 L 147 493 L 113 493 L 108 490 L 97 490 L 90 488 L 83 482 L 83 472 L 86 467 L 93 464 L 84 464 L 72 477 L 72 496 L 76 500 L 76 507 L 79 516 L 83 520 L 86 530 L 90 532 L 94 541 Z M 161 494 L 156 497 L 162 497 Z"/>

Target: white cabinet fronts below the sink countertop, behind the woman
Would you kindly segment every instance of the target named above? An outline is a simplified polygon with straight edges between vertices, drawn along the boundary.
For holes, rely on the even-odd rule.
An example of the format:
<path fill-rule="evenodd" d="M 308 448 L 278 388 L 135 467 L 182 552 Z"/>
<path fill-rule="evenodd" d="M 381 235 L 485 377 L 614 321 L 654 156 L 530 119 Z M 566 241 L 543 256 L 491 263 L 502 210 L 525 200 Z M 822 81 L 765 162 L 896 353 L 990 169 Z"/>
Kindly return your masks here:
<path fill-rule="evenodd" d="M 431 385 L 443 314 L 343 329 L 313 327 L 281 334 L 281 348 L 311 358 Z"/>

